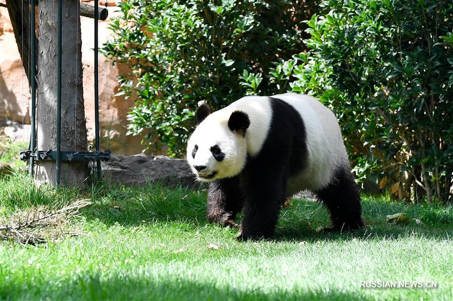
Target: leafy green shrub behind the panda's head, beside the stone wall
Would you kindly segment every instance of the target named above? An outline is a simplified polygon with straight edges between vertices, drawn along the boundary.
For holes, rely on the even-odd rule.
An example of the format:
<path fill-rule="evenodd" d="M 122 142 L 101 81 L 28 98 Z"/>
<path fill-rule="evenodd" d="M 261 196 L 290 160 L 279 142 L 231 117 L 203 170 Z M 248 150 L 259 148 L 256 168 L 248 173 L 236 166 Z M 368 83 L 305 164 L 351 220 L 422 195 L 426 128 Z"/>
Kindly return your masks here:
<path fill-rule="evenodd" d="M 301 20 L 318 1 L 291 0 L 119 2 L 114 38 L 104 53 L 130 72 L 120 94 L 137 95 L 130 134 L 151 129 L 149 143 L 181 156 L 200 101 L 222 108 L 245 94 L 273 94 L 270 70 L 304 48 Z M 158 136 L 158 140 L 152 139 Z"/>

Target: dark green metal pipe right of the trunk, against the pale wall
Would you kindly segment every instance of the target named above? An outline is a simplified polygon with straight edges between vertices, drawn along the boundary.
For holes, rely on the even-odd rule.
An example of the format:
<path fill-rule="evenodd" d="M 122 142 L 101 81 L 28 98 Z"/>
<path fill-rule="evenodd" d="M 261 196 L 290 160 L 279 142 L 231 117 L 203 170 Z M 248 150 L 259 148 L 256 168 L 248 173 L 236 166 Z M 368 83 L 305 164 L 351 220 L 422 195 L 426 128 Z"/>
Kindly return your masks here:
<path fill-rule="evenodd" d="M 101 148 L 99 137 L 99 62 L 98 62 L 98 23 L 99 23 L 99 0 L 94 0 L 94 123 L 96 135 L 96 151 Z M 96 161 L 98 179 L 101 178 L 101 160 Z"/>

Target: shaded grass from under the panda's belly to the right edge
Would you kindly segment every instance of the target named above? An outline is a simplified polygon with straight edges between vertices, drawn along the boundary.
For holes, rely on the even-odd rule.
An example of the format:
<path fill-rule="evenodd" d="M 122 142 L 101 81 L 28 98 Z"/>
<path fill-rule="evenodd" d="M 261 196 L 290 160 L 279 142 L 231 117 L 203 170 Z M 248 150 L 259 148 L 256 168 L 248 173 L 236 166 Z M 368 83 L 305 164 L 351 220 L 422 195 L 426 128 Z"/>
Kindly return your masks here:
<path fill-rule="evenodd" d="M 294 204 L 292 204 L 294 205 Z M 323 232 L 320 228 L 330 225 L 327 210 L 318 203 L 301 200 L 295 204 L 286 219 L 281 219 L 276 231 L 278 241 L 319 241 L 350 239 L 396 239 L 426 236 L 431 239 L 453 239 L 453 207 L 406 205 L 383 200 L 364 198 L 362 214 L 366 226 L 357 231 Z M 386 216 L 404 213 L 408 223 L 389 224 Z M 300 218 L 299 218 L 300 217 Z M 421 220 L 417 224 L 415 219 Z"/>

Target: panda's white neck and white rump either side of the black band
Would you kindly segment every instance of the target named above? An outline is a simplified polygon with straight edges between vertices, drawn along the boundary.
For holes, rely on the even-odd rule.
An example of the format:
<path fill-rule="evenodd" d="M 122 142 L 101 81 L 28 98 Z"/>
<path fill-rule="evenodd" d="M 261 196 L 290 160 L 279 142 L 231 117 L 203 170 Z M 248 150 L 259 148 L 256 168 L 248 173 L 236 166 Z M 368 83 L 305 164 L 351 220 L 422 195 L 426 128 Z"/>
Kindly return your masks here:
<path fill-rule="evenodd" d="M 306 131 L 305 168 L 289 179 L 288 194 L 304 189 L 317 190 L 327 186 L 338 167 L 349 165 L 335 115 L 316 98 L 309 95 L 285 93 L 270 97 L 281 99 L 299 112 Z M 214 112 L 207 119 L 226 124 L 232 112 L 239 110 L 247 113 L 250 118 L 250 127 L 247 129 L 245 139 L 247 151 L 253 157 L 260 153 L 271 126 L 273 113 L 270 97 L 242 97 Z"/>

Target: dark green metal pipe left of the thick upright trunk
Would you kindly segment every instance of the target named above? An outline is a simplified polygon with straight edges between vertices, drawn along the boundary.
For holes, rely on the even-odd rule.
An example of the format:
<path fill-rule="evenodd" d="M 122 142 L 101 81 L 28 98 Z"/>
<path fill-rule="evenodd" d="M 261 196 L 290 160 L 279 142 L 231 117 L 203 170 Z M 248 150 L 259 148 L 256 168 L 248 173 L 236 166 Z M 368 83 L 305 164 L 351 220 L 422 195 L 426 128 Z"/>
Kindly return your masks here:
<path fill-rule="evenodd" d="M 35 151 L 35 119 L 36 119 L 36 29 L 35 29 L 35 0 L 31 1 L 31 10 L 30 10 L 30 39 L 31 39 L 31 137 L 30 137 L 30 149 L 32 152 Z M 33 164 L 34 159 L 30 158 L 29 173 L 33 176 Z"/>

